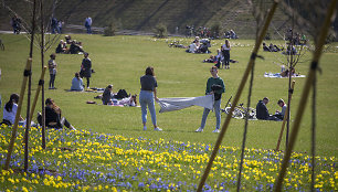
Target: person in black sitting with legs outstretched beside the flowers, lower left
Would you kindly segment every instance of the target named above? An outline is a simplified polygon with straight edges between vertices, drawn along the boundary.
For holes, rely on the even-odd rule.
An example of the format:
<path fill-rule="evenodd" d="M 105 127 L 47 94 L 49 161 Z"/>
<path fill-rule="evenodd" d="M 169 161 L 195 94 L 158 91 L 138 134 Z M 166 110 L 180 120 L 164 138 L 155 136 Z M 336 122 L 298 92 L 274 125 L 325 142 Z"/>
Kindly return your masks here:
<path fill-rule="evenodd" d="M 38 114 L 38 122 L 42 125 L 42 115 Z M 45 126 L 49 128 L 62 129 L 63 126 L 70 130 L 76 130 L 65 117 L 61 116 L 61 108 L 52 98 L 45 99 Z"/>

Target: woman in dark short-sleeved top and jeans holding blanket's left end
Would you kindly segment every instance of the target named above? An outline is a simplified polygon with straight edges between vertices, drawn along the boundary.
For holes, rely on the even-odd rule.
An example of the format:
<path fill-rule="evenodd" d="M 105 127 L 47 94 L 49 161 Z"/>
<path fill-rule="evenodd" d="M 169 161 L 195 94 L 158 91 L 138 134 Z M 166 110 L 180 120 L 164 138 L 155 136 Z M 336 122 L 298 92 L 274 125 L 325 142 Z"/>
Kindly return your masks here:
<path fill-rule="evenodd" d="M 151 121 L 154 125 L 154 130 L 160 131 L 162 130 L 157 126 L 156 121 L 156 110 L 155 110 L 155 100 L 158 100 L 157 98 L 157 81 L 154 73 L 154 67 L 148 66 L 146 68 L 146 73 L 144 76 L 140 77 L 140 85 L 141 89 L 139 93 L 139 103 L 141 106 L 141 118 L 144 124 L 144 130 L 147 130 L 147 106 L 150 111 Z"/>

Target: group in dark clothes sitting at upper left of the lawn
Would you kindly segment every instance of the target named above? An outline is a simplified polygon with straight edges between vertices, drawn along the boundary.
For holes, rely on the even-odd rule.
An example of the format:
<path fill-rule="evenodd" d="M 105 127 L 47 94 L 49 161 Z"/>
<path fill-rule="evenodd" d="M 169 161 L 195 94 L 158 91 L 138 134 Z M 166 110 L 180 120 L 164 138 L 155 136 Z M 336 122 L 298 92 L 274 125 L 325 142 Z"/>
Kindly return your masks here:
<path fill-rule="evenodd" d="M 82 42 L 72 40 L 71 35 L 65 35 L 65 41 L 60 41 L 59 45 L 56 46 L 55 53 L 83 54 L 84 50 L 82 47 Z"/>

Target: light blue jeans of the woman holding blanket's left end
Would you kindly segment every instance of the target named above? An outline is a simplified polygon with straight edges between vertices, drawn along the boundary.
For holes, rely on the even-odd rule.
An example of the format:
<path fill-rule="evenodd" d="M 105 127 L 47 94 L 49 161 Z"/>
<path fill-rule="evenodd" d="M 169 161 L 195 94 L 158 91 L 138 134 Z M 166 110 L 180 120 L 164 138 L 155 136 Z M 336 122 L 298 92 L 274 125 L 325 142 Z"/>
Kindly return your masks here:
<path fill-rule="evenodd" d="M 141 117 L 142 117 L 142 122 L 147 122 L 147 106 L 150 111 L 151 116 L 151 121 L 152 125 L 156 126 L 156 110 L 155 110 L 155 103 L 154 103 L 154 93 L 148 92 L 148 90 L 140 90 L 139 93 L 139 104 L 141 106 Z"/>

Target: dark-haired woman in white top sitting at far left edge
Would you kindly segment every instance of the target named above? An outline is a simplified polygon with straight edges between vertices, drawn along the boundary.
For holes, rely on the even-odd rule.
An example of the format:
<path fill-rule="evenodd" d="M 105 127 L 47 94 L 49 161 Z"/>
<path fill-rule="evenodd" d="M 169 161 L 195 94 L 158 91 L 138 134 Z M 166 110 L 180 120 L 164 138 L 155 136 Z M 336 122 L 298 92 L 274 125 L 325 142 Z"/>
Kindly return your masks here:
<path fill-rule="evenodd" d="M 18 110 L 18 103 L 19 103 L 19 95 L 12 94 L 8 103 L 6 103 L 4 105 L 2 122 L 0 125 L 6 124 L 8 126 L 11 126 L 14 124 L 17 110 Z M 23 120 L 21 116 L 20 116 L 20 120 Z"/>

